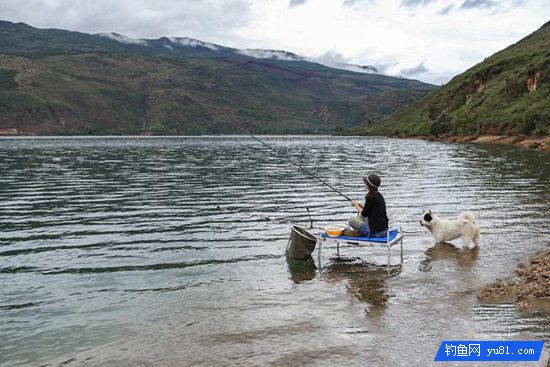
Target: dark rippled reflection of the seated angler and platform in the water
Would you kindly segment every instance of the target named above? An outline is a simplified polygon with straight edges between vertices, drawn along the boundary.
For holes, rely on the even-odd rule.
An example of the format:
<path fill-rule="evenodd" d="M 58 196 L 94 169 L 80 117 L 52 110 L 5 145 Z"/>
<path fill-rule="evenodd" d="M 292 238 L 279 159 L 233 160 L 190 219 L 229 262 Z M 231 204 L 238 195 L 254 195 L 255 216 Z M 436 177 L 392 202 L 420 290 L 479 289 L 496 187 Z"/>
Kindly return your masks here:
<path fill-rule="evenodd" d="M 386 281 L 401 273 L 401 265 L 377 265 L 358 258 L 335 258 L 324 270 L 328 283 L 347 282 L 348 292 L 367 304 L 368 315 L 382 315 L 389 299 Z"/>

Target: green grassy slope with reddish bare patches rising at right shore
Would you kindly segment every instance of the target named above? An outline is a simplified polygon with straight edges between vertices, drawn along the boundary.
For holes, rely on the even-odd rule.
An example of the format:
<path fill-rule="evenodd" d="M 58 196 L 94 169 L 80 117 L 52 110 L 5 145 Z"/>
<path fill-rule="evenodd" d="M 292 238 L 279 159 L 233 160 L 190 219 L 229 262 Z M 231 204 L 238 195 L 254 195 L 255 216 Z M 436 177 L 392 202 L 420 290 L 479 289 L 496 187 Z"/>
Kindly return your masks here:
<path fill-rule="evenodd" d="M 549 135 L 550 22 L 358 134 Z"/>

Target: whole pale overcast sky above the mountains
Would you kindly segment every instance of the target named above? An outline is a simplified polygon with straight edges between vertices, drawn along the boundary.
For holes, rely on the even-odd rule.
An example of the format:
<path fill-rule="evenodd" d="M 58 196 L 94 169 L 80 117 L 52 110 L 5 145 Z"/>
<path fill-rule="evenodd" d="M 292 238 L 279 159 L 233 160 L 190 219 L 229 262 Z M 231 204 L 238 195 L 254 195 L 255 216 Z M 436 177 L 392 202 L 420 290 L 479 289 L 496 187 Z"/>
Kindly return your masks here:
<path fill-rule="evenodd" d="M 550 0 L 0 0 L 0 18 L 281 49 L 442 84 L 550 20 Z"/>

